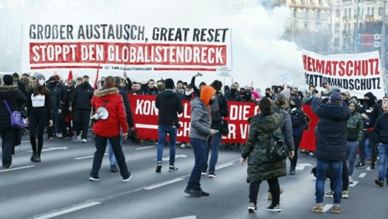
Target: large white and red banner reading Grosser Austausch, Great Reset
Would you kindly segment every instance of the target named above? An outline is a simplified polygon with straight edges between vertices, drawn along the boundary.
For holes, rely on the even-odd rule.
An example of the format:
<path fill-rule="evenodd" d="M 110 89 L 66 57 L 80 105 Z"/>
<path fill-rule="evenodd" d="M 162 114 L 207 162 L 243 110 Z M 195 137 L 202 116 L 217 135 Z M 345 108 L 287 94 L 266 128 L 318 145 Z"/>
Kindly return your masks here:
<path fill-rule="evenodd" d="M 231 31 L 130 24 L 23 24 L 22 71 L 208 71 L 231 66 Z M 100 66 L 98 67 L 98 64 Z"/>

